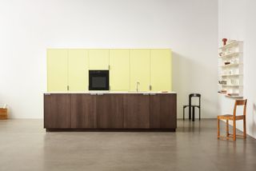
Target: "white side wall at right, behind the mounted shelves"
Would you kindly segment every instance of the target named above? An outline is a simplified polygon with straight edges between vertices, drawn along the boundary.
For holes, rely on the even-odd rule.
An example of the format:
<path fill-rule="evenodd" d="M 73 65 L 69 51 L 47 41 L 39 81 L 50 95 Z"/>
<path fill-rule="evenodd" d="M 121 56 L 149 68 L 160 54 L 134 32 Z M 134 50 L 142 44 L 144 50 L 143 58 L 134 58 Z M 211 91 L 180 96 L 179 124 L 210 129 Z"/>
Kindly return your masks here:
<path fill-rule="evenodd" d="M 219 42 L 222 38 L 244 41 L 244 97 L 247 105 L 247 132 L 256 137 L 256 2 L 254 0 L 219 0 Z M 234 100 L 219 95 L 221 113 L 231 113 Z M 242 129 L 242 121 L 238 121 Z"/>

